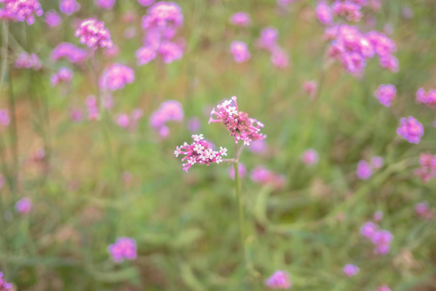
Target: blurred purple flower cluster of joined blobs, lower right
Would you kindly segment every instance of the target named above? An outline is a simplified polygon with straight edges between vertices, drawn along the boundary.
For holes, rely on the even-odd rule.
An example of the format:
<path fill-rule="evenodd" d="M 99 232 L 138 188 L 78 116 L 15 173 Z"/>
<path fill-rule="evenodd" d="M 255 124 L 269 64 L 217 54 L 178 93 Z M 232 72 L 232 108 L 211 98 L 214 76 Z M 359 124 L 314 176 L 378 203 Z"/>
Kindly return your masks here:
<path fill-rule="evenodd" d="M 367 222 L 361 227 L 360 233 L 371 240 L 372 244 L 375 246 L 375 254 L 385 255 L 389 252 L 390 244 L 394 237 L 388 230 L 380 229 L 376 224 Z"/>

